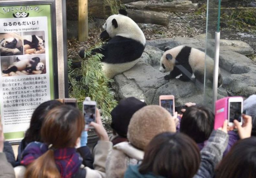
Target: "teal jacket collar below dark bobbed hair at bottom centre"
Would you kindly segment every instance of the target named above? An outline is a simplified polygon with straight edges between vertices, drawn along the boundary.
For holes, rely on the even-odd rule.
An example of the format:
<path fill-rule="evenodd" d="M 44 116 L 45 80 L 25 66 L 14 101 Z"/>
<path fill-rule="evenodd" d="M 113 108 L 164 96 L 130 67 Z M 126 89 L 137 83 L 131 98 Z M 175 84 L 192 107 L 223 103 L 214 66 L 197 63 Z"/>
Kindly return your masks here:
<path fill-rule="evenodd" d="M 139 172 L 139 165 L 130 165 L 124 174 L 124 178 L 165 178 L 163 176 L 156 176 L 153 173 L 141 174 Z"/>

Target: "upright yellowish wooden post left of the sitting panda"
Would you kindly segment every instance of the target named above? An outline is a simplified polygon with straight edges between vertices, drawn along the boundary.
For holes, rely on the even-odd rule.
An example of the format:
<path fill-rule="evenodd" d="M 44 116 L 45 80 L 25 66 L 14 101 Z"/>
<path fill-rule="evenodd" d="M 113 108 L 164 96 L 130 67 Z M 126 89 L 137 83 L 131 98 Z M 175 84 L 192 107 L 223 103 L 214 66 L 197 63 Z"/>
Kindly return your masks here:
<path fill-rule="evenodd" d="M 78 41 L 88 40 L 88 0 L 78 0 Z"/>

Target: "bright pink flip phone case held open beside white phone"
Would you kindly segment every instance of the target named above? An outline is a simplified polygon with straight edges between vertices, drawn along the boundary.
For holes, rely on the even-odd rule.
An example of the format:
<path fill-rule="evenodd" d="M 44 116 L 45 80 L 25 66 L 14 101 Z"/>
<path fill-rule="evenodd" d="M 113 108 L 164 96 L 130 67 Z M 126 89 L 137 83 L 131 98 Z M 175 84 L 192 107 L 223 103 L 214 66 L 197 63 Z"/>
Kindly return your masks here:
<path fill-rule="evenodd" d="M 223 122 L 227 119 L 227 112 L 228 112 L 228 98 L 222 98 L 216 101 L 215 104 L 215 122 L 214 122 L 214 129 L 217 130 L 218 128 L 223 126 Z"/>

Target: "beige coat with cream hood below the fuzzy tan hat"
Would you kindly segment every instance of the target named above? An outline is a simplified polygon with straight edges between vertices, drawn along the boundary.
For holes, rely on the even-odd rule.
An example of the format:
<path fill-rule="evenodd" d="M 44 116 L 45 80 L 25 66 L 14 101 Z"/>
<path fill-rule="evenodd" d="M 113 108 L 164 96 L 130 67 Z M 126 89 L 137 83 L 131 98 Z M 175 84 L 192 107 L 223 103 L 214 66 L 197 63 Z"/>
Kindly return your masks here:
<path fill-rule="evenodd" d="M 136 165 L 144 158 L 144 151 L 129 142 L 121 142 L 113 147 L 106 161 L 107 178 L 123 178 L 128 165 Z"/>

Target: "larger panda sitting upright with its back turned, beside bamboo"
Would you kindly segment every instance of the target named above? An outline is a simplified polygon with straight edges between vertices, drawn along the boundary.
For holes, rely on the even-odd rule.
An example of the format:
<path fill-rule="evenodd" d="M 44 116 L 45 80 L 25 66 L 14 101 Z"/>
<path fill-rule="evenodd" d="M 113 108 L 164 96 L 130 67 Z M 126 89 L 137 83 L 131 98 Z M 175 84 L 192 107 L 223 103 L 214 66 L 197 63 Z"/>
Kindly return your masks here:
<path fill-rule="evenodd" d="M 106 77 L 113 78 L 116 74 L 131 69 L 141 57 L 146 39 L 142 30 L 129 17 L 123 9 L 118 15 L 108 17 L 103 25 L 100 38 L 110 40 L 100 48 L 93 49 L 92 54 L 100 53 L 104 57 L 101 59 L 102 70 Z M 81 50 L 79 55 L 84 58 L 85 50 Z"/>

